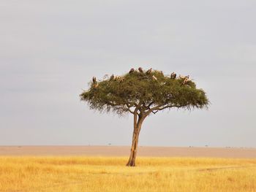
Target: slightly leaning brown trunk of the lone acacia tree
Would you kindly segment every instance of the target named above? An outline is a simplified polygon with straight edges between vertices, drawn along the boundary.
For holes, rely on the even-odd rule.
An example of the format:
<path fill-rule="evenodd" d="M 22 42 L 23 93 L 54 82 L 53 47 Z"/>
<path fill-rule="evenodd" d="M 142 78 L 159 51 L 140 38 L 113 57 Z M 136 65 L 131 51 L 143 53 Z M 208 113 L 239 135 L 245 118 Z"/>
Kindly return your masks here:
<path fill-rule="evenodd" d="M 129 155 L 129 161 L 127 163 L 127 166 L 135 166 L 139 134 L 140 134 L 140 128 L 142 123 L 143 123 L 143 118 L 139 118 L 138 123 L 136 121 L 134 123 L 134 129 L 133 129 L 133 135 L 132 135 L 132 148 L 131 148 L 131 153 Z"/>

